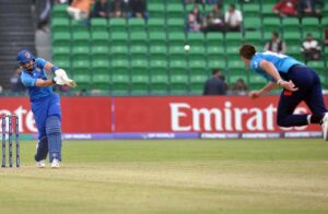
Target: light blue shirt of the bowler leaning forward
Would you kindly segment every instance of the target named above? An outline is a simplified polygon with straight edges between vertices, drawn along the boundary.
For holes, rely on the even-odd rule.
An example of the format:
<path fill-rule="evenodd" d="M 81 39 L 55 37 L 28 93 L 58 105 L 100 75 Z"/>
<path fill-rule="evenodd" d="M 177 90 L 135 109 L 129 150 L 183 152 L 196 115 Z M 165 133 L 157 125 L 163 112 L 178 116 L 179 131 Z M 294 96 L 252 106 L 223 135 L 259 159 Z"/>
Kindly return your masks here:
<path fill-rule="evenodd" d="M 272 76 L 270 76 L 266 71 L 260 69 L 260 62 L 267 60 L 276 67 L 279 73 L 288 73 L 289 69 L 294 64 L 303 64 L 302 62 L 295 60 L 292 57 L 286 55 L 266 51 L 266 52 L 256 52 L 250 60 L 250 70 L 256 71 L 261 74 L 268 81 L 276 82 Z"/>

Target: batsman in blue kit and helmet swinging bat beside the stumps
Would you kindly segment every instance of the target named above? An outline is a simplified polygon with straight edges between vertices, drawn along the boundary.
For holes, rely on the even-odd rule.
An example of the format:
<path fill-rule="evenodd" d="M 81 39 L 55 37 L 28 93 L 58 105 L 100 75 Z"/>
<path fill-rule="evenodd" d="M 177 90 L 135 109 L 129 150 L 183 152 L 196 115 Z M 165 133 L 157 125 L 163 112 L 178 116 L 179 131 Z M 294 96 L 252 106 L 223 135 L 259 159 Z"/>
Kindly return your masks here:
<path fill-rule="evenodd" d="M 61 108 L 52 85 L 75 87 L 77 84 L 67 76 L 65 70 L 42 58 L 35 58 L 28 50 L 20 51 L 17 61 L 23 69 L 21 79 L 28 90 L 38 130 L 35 160 L 38 167 L 44 168 L 49 153 L 51 168 L 58 168 L 61 162 Z M 55 78 L 49 78 L 45 70 L 51 71 Z"/>

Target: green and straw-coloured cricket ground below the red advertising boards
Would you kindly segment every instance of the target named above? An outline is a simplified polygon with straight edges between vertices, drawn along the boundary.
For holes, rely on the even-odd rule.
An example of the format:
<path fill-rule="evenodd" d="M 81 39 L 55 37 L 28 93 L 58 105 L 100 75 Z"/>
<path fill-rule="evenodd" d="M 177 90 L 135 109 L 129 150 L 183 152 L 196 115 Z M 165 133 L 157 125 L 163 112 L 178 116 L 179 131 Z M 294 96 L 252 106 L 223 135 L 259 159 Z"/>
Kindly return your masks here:
<path fill-rule="evenodd" d="M 0 169 L 0 213 L 328 213 L 328 143 L 66 141 L 59 169 Z"/>

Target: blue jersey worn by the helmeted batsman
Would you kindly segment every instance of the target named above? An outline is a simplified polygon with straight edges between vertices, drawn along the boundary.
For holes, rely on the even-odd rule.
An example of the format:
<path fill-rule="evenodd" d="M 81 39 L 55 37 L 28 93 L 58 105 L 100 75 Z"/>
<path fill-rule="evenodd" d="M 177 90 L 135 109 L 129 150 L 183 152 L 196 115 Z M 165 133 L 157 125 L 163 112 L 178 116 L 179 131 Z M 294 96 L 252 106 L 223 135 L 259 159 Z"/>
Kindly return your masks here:
<path fill-rule="evenodd" d="M 47 86 L 47 87 L 35 86 L 37 79 L 43 79 L 43 80 L 48 79 L 47 73 L 44 70 L 46 63 L 47 63 L 46 60 L 42 58 L 36 58 L 33 71 L 30 72 L 25 70 L 22 71 L 22 75 L 21 75 L 22 83 L 28 90 L 31 102 L 35 102 L 54 94 L 52 86 Z"/>

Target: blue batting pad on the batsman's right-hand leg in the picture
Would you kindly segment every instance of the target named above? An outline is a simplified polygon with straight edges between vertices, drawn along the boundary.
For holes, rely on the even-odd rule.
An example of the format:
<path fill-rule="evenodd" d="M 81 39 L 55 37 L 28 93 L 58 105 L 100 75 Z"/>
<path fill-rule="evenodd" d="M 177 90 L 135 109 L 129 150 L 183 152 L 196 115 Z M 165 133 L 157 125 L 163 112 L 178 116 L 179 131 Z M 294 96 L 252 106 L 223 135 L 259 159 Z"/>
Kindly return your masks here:
<path fill-rule="evenodd" d="M 57 116 L 50 116 L 46 120 L 48 138 L 49 162 L 54 158 L 61 160 L 61 124 Z"/>

